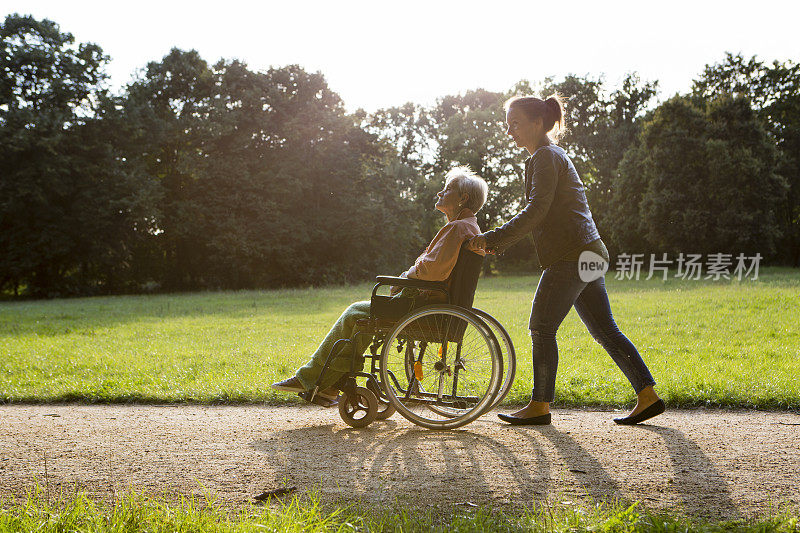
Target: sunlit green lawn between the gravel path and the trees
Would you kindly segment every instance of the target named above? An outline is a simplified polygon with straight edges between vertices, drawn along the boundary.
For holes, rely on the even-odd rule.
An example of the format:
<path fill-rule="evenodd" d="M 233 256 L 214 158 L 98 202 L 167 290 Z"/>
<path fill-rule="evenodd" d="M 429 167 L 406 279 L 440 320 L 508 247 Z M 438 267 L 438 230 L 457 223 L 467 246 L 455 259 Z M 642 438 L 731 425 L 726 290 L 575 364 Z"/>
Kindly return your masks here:
<path fill-rule="evenodd" d="M 673 405 L 800 408 L 800 271 L 758 281 L 617 281 L 617 322 Z M 509 330 L 531 387 L 527 319 L 538 276 L 482 279 L 476 307 Z M 294 402 L 269 384 L 293 374 L 371 284 L 274 291 L 0 303 L 0 401 Z M 634 395 L 577 315 L 558 336 L 557 403 Z"/>

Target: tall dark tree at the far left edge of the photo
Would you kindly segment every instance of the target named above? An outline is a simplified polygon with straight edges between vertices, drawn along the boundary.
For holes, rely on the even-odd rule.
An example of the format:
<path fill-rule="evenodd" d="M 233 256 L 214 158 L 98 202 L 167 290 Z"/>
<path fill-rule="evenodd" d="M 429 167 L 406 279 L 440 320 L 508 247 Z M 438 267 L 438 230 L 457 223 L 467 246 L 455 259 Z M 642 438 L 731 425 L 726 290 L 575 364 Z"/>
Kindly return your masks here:
<path fill-rule="evenodd" d="M 7 16 L 0 46 L 0 289 L 110 290 L 148 188 L 101 131 L 107 57 L 30 16 Z"/>

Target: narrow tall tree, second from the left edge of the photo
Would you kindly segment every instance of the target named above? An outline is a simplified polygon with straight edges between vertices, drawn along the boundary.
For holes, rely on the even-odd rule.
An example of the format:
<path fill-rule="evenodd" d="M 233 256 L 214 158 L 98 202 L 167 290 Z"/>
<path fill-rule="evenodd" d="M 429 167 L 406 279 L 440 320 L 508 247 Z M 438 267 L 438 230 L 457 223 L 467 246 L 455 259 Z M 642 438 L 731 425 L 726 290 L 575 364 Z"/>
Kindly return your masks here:
<path fill-rule="evenodd" d="M 202 285 L 197 163 L 212 128 L 213 93 L 214 76 L 206 61 L 194 50 L 174 48 L 160 62 L 148 63 L 123 96 L 124 113 L 137 125 L 130 157 L 158 184 L 154 229 L 140 253 L 156 259 L 145 268 L 165 289 Z"/>

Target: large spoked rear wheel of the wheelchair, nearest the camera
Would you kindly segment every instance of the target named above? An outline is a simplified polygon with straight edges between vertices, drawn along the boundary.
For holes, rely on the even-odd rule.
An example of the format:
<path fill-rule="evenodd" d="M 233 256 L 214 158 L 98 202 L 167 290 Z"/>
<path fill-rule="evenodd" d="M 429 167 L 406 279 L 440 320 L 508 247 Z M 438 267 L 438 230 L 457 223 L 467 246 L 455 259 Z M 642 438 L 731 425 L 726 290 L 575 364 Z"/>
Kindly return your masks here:
<path fill-rule="evenodd" d="M 381 382 L 397 411 L 430 429 L 452 429 L 487 411 L 502 385 L 501 349 L 489 327 L 454 305 L 419 308 L 387 335 Z"/>

